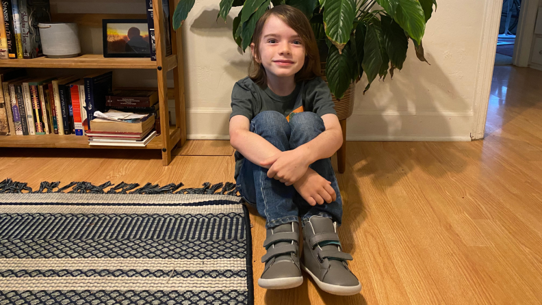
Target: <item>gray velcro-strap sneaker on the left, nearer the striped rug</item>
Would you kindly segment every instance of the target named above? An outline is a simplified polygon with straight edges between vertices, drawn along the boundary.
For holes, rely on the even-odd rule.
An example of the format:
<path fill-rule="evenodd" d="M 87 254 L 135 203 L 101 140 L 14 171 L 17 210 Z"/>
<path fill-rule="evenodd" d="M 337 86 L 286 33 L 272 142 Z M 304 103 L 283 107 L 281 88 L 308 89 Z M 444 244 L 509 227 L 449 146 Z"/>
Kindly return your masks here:
<path fill-rule="evenodd" d="M 289 289 L 303 283 L 299 265 L 299 227 L 289 222 L 268 228 L 263 246 L 267 254 L 261 262 L 266 263 L 258 285 L 265 289 Z"/>

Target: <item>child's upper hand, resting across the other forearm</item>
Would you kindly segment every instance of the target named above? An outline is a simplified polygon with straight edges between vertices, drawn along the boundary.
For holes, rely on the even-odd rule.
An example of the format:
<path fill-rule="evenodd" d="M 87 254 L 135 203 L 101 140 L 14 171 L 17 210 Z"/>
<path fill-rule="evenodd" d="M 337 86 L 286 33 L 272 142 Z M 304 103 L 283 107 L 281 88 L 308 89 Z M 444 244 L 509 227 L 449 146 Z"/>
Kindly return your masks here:
<path fill-rule="evenodd" d="M 262 166 L 271 165 L 268 177 L 293 185 L 309 168 L 309 161 L 299 150 L 287 150 L 260 162 Z"/>

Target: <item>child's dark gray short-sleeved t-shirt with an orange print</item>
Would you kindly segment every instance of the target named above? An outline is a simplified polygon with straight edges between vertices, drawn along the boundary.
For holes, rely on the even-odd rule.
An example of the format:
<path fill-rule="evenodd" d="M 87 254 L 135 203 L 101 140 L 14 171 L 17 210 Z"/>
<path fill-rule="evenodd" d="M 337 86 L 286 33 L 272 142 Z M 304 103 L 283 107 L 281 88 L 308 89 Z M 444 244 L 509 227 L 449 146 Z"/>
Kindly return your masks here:
<path fill-rule="evenodd" d="M 311 111 L 318 116 L 337 114 L 335 104 L 331 100 L 331 92 L 326 82 L 315 77 L 309 81 L 300 81 L 294 91 L 287 96 L 279 96 L 269 87 L 261 89 L 250 77 L 237 81 L 231 92 L 231 115 L 246 116 L 252 120 L 261 111 L 278 111 L 289 120 L 294 113 Z M 235 180 L 239 175 L 244 157 L 235 151 Z"/>

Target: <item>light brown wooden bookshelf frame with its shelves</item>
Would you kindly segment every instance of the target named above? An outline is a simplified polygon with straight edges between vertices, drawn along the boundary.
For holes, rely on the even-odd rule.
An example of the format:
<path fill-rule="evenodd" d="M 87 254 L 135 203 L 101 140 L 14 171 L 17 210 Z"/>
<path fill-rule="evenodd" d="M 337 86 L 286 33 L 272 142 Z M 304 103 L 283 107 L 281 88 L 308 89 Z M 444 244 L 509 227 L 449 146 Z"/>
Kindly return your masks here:
<path fill-rule="evenodd" d="M 175 12 L 179 0 L 169 0 L 170 18 Z M 157 61 L 150 58 L 105 58 L 99 54 L 84 54 L 79 57 L 53 59 L 39 57 L 34 59 L 0 60 L 1 67 L 15 68 L 106 68 L 106 69 L 156 69 L 158 81 L 160 125 L 162 134 L 156 136 L 145 147 L 131 146 L 90 146 L 86 136 L 77 135 L 8 135 L 0 137 L 1 147 L 27 148 L 116 148 L 116 149 L 159 149 L 162 150 L 162 164 L 171 161 L 171 151 L 175 146 L 186 142 L 186 111 L 184 97 L 184 66 L 181 30 L 173 31 L 171 26 L 172 55 L 166 56 L 164 42 L 164 12 L 162 0 L 153 0 L 155 40 Z M 102 19 L 140 18 L 146 19 L 146 14 L 53 14 L 56 22 L 77 22 L 81 25 L 101 27 Z M 172 20 L 171 20 L 172 21 Z M 166 73 L 173 70 L 174 88 L 167 87 Z M 168 95 L 175 98 L 175 126 L 169 125 Z M 165 136 L 168 135 L 168 136 Z"/>

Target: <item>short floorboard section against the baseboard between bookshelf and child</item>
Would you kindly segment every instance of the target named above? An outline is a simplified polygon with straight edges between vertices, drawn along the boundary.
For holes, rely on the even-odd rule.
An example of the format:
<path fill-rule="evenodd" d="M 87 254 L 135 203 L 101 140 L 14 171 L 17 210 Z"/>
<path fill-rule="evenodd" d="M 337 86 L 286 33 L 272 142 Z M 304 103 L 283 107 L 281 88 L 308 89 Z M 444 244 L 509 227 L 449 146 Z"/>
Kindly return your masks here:
<path fill-rule="evenodd" d="M 175 148 L 177 156 L 231 156 L 235 149 L 228 140 L 188 140 L 183 147 Z"/>

